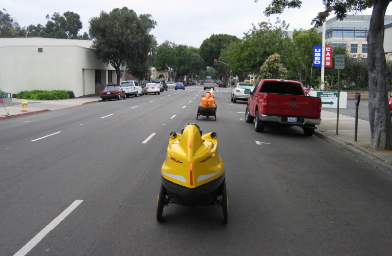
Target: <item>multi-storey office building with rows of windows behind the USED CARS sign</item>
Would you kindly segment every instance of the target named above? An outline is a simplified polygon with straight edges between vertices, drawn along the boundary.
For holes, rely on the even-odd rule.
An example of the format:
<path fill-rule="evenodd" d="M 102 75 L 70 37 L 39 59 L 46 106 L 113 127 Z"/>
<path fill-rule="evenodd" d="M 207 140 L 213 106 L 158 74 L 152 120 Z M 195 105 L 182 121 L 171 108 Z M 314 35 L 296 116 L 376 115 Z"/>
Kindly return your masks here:
<path fill-rule="evenodd" d="M 325 22 L 325 45 L 341 46 L 347 49 L 347 53 L 356 54 L 359 57 L 367 57 L 367 33 L 369 31 L 372 15 L 350 15 L 343 20 L 336 17 Z M 392 16 L 385 15 L 384 25 L 392 24 Z M 316 28 L 319 34 L 322 27 Z"/>

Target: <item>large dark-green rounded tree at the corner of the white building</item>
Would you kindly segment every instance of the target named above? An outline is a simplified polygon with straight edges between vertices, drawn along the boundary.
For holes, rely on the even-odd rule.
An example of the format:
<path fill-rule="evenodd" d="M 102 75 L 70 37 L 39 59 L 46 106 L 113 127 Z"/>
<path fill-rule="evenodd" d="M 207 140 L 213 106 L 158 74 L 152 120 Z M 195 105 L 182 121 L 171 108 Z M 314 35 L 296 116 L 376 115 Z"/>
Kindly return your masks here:
<path fill-rule="evenodd" d="M 137 76 L 145 73 L 151 45 L 148 32 L 153 28 L 151 24 L 156 23 L 151 20 L 147 25 L 146 19 L 151 18 L 149 14 L 140 17 L 133 10 L 123 7 L 109 13 L 101 11 L 99 17 L 90 19 L 89 32 L 94 38 L 92 49 L 99 59 L 113 66 L 118 84 L 121 67 L 127 67 Z"/>

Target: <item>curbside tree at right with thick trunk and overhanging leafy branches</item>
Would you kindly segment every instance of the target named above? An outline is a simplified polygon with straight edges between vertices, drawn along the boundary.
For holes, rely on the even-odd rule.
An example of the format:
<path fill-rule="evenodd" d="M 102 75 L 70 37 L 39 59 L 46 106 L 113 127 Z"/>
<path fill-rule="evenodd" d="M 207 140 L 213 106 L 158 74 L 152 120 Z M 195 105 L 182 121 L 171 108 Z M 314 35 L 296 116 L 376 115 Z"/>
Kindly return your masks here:
<path fill-rule="evenodd" d="M 257 0 L 255 0 L 257 2 Z M 358 13 L 373 8 L 368 44 L 369 74 L 369 124 L 372 136 L 371 147 L 392 149 L 392 122 L 388 106 L 388 79 L 383 47 L 384 16 L 391 0 L 323 0 L 324 10 L 312 19 L 312 24 L 322 26 L 331 12 L 342 20 L 347 13 Z M 286 8 L 300 8 L 300 0 L 272 0 L 265 9 L 265 15 L 281 14 Z"/>

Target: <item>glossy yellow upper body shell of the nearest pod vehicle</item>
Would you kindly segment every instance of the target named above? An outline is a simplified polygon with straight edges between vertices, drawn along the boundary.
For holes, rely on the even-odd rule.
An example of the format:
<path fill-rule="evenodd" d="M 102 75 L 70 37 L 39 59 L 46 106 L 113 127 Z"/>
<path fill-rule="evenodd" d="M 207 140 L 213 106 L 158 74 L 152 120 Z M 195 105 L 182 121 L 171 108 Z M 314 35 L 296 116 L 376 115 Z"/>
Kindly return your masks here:
<path fill-rule="evenodd" d="M 187 125 L 183 134 L 169 139 L 161 174 L 173 183 L 195 188 L 221 177 L 225 172 L 217 139 L 211 133 L 200 135 L 198 128 Z"/>

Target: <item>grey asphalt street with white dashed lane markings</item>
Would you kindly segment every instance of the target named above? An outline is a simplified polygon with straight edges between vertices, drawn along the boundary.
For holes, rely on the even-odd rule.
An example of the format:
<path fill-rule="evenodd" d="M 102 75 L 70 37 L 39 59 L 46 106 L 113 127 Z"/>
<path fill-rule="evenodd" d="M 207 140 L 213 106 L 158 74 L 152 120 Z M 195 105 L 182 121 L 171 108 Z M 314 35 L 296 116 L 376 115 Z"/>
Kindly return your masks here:
<path fill-rule="evenodd" d="M 0 255 L 390 254 L 392 177 L 299 127 L 256 133 L 229 88 L 216 89 L 216 121 L 196 120 L 202 93 L 3 120 Z M 169 134 L 188 122 L 218 134 L 227 225 L 216 206 L 155 219 Z"/>

